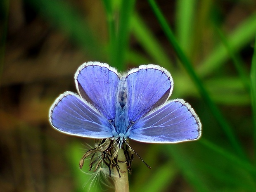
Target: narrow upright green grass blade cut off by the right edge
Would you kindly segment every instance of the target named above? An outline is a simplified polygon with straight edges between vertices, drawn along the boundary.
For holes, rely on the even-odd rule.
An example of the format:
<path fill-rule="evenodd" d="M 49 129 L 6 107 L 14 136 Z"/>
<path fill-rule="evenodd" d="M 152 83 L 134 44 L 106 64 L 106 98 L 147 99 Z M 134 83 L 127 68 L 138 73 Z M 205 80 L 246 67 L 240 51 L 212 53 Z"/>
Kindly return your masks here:
<path fill-rule="evenodd" d="M 254 55 L 251 62 L 251 106 L 254 121 L 254 161 L 256 162 L 256 36 Z"/>

